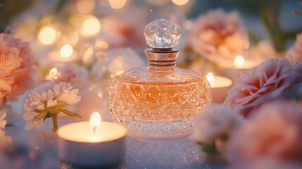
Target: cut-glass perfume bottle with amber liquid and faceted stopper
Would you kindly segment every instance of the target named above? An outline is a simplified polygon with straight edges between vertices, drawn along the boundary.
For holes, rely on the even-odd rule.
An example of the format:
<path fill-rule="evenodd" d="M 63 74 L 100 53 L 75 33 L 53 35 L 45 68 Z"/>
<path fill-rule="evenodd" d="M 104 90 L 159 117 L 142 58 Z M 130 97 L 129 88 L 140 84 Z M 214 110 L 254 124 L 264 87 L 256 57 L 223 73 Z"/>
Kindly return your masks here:
<path fill-rule="evenodd" d="M 175 68 L 180 26 L 170 20 L 146 25 L 148 65 L 116 75 L 109 87 L 113 120 L 141 137 L 190 134 L 192 120 L 210 104 L 211 89 L 199 73 Z"/>

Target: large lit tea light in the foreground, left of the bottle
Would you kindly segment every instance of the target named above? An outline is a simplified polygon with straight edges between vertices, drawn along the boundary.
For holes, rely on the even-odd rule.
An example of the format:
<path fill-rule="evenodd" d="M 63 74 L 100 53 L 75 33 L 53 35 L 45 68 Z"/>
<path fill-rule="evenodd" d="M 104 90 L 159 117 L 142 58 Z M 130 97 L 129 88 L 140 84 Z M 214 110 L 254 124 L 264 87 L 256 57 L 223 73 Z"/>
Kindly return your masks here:
<path fill-rule="evenodd" d="M 75 167 L 112 167 L 122 163 L 125 156 L 127 130 L 116 123 L 101 122 L 96 112 L 90 122 L 64 125 L 57 134 L 59 158 Z"/>

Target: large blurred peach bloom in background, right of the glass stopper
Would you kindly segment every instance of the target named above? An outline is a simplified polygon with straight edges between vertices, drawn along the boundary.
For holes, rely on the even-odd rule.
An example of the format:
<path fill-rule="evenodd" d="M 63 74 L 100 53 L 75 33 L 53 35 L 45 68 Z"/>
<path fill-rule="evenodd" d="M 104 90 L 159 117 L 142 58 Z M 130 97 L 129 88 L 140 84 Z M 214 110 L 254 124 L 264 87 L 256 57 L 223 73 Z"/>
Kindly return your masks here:
<path fill-rule="evenodd" d="M 239 14 L 220 9 L 199 16 L 189 32 L 189 44 L 196 54 L 223 65 L 248 48 L 248 35 Z"/>

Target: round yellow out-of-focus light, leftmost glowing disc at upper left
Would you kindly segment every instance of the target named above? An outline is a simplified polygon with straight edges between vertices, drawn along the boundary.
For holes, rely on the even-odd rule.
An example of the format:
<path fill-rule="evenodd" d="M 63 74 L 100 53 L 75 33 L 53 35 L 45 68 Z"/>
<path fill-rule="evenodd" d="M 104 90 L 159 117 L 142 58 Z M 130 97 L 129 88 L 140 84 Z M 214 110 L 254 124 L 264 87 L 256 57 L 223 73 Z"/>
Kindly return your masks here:
<path fill-rule="evenodd" d="M 56 41 L 56 30 L 54 27 L 44 27 L 39 32 L 39 41 L 42 44 L 54 44 Z"/>

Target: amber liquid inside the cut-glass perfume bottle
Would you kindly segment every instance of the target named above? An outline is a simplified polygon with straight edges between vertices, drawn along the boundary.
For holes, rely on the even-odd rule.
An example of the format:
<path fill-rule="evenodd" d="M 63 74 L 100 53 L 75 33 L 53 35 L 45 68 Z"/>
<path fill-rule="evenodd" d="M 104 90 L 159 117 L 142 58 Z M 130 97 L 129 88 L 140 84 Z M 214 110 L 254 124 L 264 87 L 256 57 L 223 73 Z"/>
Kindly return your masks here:
<path fill-rule="evenodd" d="M 117 97 L 123 102 L 115 106 L 132 120 L 170 122 L 191 119 L 201 112 L 207 101 L 204 92 L 199 90 L 205 86 L 204 80 L 156 84 L 120 79 L 120 83 Z"/>

